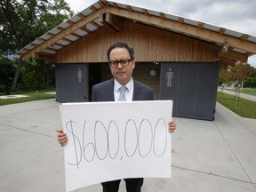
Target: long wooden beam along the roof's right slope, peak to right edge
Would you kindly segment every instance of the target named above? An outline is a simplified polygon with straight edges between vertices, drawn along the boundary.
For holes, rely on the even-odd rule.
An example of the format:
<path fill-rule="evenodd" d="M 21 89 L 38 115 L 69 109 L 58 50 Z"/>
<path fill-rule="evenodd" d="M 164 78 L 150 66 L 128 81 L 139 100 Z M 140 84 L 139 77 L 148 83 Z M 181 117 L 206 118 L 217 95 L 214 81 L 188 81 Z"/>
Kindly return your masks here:
<path fill-rule="evenodd" d="M 230 46 L 236 47 L 237 49 L 241 49 L 245 52 L 252 52 L 256 54 L 256 46 L 255 43 L 249 41 L 241 41 L 233 36 L 225 36 L 224 34 L 220 34 L 220 32 L 215 32 L 212 30 L 207 30 L 204 28 L 198 28 L 195 26 L 181 24 L 177 21 L 173 20 L 162 20 L 159 17 L 141 14 L 140 12 L 128 12 L 125 10 L 116 9 L 114 7 L 108 7 L 106 10 L 111 12 L 112 14 L 116 14 L 120 17 L 129 18 L 130 20 L 139 20 L 141 22 L 149 22 L 156 26 L 162 26 L 163 28 L 170 28 L 170 30 L 179 31 L 180 33 L 186 33 L 191 36 L 200 36 L 203 39 L 214 43 L 224 44 L 227 42 Z M 225 32 L 225 29 L 223 28 Z"/>

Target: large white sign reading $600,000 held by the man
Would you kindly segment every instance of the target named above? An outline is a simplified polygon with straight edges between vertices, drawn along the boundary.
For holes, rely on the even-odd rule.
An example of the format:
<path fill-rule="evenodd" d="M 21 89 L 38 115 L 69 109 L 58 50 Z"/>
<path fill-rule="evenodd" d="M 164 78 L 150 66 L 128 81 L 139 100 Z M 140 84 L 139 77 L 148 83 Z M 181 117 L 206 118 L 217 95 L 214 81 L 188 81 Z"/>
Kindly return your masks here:
<path fill-rule="evenodd" d="M 172 100 L 67 103 L 60 106 L 66 189 L 108 180 L 171 178 Z"/>

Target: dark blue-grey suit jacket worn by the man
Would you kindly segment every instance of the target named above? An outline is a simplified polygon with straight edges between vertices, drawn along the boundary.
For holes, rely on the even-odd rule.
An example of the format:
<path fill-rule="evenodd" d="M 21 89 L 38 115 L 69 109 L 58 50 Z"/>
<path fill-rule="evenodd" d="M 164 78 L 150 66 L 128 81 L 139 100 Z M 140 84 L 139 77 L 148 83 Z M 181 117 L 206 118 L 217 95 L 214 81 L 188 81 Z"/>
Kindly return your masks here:
<path fill-rule="evenodd" d="M 134 88 L 132 100 L 153 100 L 154 91 L 146 84 L 133 79 Z M 95 84 L 92 86 L 92 101 L 115 101 L 114 99 L 114 79 Z"/>

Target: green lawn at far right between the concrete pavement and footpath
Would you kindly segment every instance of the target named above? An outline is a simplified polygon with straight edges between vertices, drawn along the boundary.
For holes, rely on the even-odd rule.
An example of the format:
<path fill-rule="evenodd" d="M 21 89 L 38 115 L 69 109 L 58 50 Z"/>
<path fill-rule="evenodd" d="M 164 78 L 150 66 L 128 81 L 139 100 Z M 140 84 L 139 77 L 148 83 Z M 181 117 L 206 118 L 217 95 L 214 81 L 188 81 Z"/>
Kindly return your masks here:
<path fill-rule="evenodd" d="M 217 101 L 235 112 L 238 116 L 256 119 L 256 102 L 239 98 L 235 100 L 235 96 L 224 92 L 218 92 Z"/>

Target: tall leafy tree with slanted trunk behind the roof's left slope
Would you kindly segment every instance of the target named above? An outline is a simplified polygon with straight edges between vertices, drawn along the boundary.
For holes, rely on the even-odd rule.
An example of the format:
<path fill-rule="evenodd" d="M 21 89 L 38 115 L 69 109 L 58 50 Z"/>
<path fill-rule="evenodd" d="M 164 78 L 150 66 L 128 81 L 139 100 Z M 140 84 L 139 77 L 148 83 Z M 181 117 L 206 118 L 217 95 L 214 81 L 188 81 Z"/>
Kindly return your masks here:
<path fill-rule="evenodd" d="M 0 53 L 13 54 L 72 16 L 64 0 L 1 0 Z M 13 79 L 16 88 L 22 60 Z"/>

